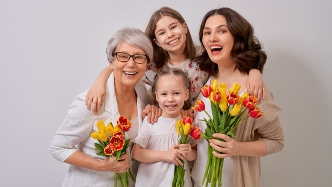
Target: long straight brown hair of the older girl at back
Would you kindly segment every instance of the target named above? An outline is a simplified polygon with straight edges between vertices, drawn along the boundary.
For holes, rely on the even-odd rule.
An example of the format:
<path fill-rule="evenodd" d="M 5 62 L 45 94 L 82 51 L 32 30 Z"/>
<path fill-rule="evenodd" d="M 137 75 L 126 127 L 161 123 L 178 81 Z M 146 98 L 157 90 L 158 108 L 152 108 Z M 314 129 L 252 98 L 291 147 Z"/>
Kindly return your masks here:
<path fill-rule="evenodd" d="M 145 28 L 145 34 L 150 38 L 152 46 L 153 46 L 153 59 L 152 61 L 156 64 L 157 69 L 161 69 L 166 64 L 167 60 L 169 59 L 169 55 L 167 51 L 165 51 L 163 48 L 159 47 L 153 40 L 156 39 L 155 30 L 157 22 L 163 17 L 163 16 L 169 16 L 171 18 L 174 18 L 180 22 L 180 24 L 184 24 L 186 21 L 181 16 L 181 14 L 169 7 L 162 7 L 159 10 L 155 11 L 151 18 L 149 23 L 147 24 Z M 188 28 L 188 32 L 186 34 L 186 47 L 184 51 L 187 58 L 194 58 L 196 55 L 195 45 L 192 41 L 190 31 Z"/>

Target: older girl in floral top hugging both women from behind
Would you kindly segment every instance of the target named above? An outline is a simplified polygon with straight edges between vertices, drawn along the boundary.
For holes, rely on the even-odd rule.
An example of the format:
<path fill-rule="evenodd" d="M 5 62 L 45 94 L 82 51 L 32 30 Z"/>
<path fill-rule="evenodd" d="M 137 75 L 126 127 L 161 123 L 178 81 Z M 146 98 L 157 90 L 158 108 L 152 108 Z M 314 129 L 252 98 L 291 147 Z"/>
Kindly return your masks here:
<path fill-rule="evenodd" d="M 149 87 L 153 83 L 156 73 L 162 69 L 176 68 L 184 71 L 190 78 L 191 96 L 189 101 L 193 104 L 197 99 L 200 88 L 208 80 L 209 74 L 206 71 L 201 71 L 197 61 L 193 60 L 202 50 L 194 45 L 184 18 L 178 11 L 169 7 L 162 7 L 152 14 L 145 33 L 150 38 L 154 50 L 152 63 L 142 79 L 147 85 L 150 98 L 153 93 L 149 92 Z M 261 72 L 257 70 L 258 68 L 251 68 L 249 79 L 246 82 L 248 83 L 247 90 L 251 95 L 258 95 L 259 97 L 262 93 L 264 99 L 264 83 L 261 79 Z M 85 99 L 89 110 L 92 107 L 93 112 L 99 111 L 99 107 L 105 100 L 105 84 L 111 72 L 110 68 L 105 68 L 89 90 Z M 150 102 L 150 104 L 152 103 Z M 151 106 L 147 107 L 149 109 L 146 111 L 153 112 L 151 116 L 155 116 L 153 115 L 155 110 Z M 154 118 L 155 121 L 156 118 L 157 115 Z M 150 117 L 148 120 L 150 121 Z"/>

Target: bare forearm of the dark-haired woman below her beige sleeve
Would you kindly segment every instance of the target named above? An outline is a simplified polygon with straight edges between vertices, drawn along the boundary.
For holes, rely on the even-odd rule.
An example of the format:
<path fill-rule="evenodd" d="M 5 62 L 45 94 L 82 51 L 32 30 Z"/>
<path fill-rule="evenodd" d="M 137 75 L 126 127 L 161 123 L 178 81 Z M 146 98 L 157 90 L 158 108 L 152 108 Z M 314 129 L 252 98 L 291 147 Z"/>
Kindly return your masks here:
<path fill-rule="evenodd" d="M 239 156 L 261 157 L 267 154 L 266 145 L 261 140 L 238 142 Z"/>

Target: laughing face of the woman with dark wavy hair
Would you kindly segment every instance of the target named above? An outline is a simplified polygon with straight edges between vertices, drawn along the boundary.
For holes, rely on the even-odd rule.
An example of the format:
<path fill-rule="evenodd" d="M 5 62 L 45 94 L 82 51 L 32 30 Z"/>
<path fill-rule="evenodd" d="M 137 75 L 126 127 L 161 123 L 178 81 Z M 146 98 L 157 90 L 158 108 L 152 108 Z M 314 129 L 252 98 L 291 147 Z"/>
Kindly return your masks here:
<path fill-rule="evenodd" d="M 202 42 L 214 63 L 233 62 L 231 51 L 234 39 L 224 16 L 213 15 L 207 19 L 203 29 Z"/>

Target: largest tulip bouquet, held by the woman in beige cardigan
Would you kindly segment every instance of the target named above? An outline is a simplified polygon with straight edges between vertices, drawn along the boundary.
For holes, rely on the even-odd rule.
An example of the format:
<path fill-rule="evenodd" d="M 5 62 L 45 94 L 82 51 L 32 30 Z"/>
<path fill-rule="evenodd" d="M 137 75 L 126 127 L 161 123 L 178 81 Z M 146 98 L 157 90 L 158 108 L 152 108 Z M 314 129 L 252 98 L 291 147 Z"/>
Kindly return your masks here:
<path fill-rule="evenodd" d="M 248 92 L 245 92 L 241 96 L 238 95 L 238 91 L 241 85 L 234 83 L 226 95 L 226 83 L 222 82 L 218 85 L 217 80 L 213 80 L 212 85 L 205 85 L 201 88 L 201 94 L 209 98 L 211 103 L 212 117 L 205 110 L 205 104 L 202 100 L 198 99 L 195 106 L 192 107 L 196 111 L 205 111 L 209 119 L 203 118 L 207 125 L 205 133 L 202 134 L 202 138 L 209 142 L 209 139 L 214 138 L 212 134 L 220 133 L 227 134 L 230 137 L 235 137 L 234 132 L 237 129 L 239 123 L 247 119 L 249 116 L 253 118 L 261 117 L 263 114 L 259 107 L 256 106 L 258 99 L 255 96 L 249 96 Z M 242 115 L 249 109 L 248 115 L 242 119 Z M 222 139 L 219 139 L 223 141 Z M 223 159 L 214 157 L 212 152 L 214 150 L 208 143 L 208 160 L 205 168 L 205 173 L 201 182 L 201 186 L 211 183 L 211 187 L 221 187 L 221 176 Z"/>

